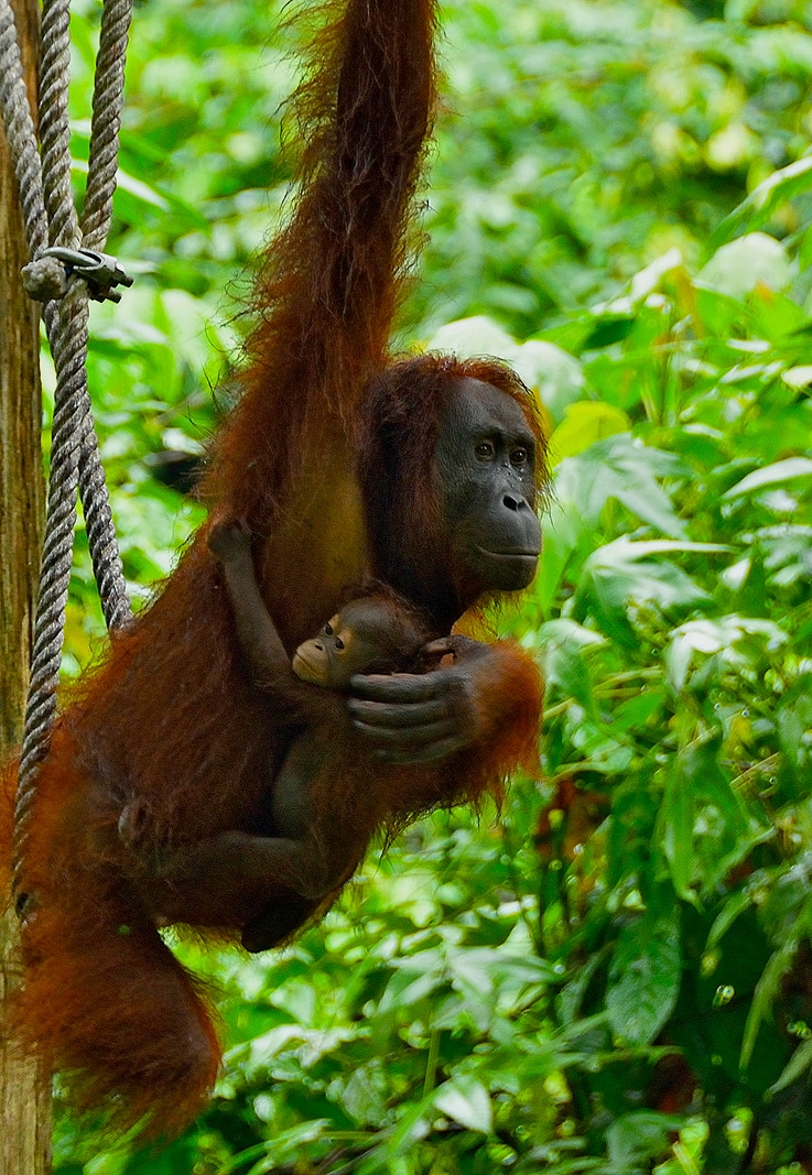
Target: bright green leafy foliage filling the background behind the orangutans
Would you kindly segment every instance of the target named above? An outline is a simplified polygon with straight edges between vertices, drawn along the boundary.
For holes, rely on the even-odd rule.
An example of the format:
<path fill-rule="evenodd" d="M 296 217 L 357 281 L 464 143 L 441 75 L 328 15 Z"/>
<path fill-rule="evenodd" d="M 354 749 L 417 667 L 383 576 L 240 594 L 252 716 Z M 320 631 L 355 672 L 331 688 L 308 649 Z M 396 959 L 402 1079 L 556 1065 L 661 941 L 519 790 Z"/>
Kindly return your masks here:
<path fill-rule="evenodd" d="M 543 566 L 497 618 L 545 667 L 543 778 L 498 820 L 411 828 L 282 955 L 179 948 L 224 993 L 212 1108 L 160 1155 L 62 1116 L 63 1175 L 810 1160 L 807 6 L 443 9 L 454 110 L 404 331 L 504 355 L 549 419 Z M 281 203 L 275 18 L 136 13 L 112 247 L 139 281 L 90 358 L 134 584 L 200 517 L 172 455 L 215 424 L 228 283 Z M 68 667 L 94 607 L 80 558 Z"/>

